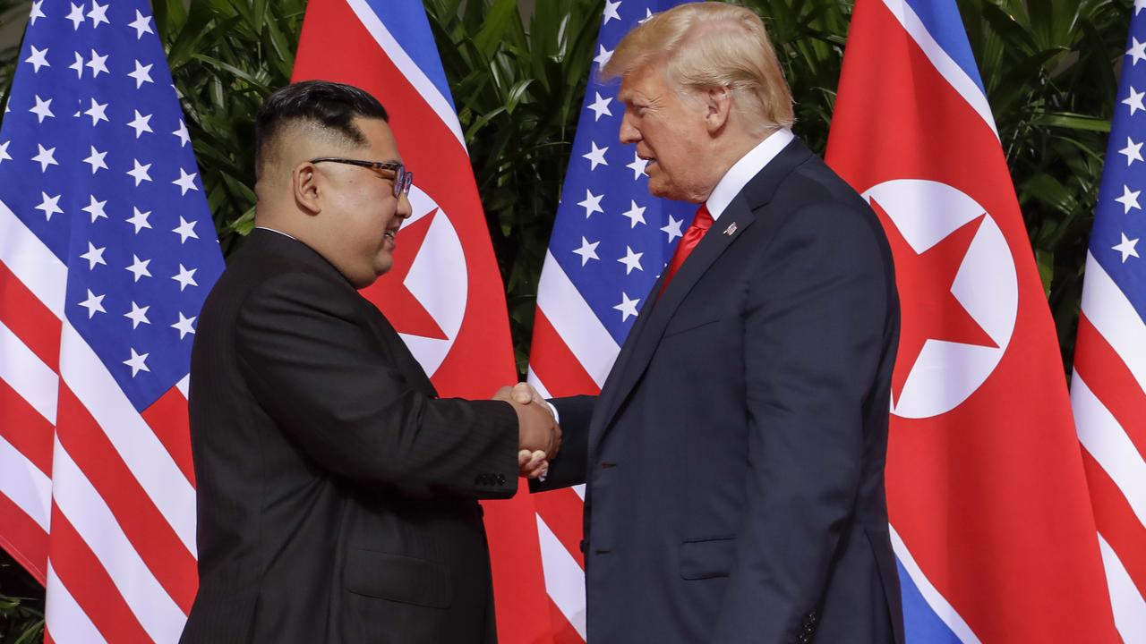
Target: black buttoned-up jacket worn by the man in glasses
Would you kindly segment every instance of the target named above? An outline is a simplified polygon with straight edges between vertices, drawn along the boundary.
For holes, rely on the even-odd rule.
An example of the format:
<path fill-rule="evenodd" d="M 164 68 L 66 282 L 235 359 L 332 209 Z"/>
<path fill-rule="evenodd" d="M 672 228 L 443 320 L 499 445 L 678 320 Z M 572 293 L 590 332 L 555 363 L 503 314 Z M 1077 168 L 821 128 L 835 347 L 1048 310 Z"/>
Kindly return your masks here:
<path fill-rule="evenodd" d="M 517 416 L 441 400 L 321 256 L 251 233 L 191 354 L 199 590 L 181 642 L 494 642 L 476 498 L 517 487 Z"/>

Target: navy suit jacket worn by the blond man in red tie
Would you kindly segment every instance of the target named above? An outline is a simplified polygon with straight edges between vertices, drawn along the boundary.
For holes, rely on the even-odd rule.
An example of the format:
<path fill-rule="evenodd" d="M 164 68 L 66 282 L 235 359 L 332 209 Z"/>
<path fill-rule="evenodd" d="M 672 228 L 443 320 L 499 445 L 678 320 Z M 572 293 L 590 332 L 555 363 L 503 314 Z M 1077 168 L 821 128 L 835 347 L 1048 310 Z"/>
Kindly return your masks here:
<path fill-rule="evenodd" d="M 902 643 L 897 336 L 879 221 L 793 141 L 644 307 L 601 396 L 554 401 L 564 448 L 535 489 L 588 482 L 589 642 Z"/>

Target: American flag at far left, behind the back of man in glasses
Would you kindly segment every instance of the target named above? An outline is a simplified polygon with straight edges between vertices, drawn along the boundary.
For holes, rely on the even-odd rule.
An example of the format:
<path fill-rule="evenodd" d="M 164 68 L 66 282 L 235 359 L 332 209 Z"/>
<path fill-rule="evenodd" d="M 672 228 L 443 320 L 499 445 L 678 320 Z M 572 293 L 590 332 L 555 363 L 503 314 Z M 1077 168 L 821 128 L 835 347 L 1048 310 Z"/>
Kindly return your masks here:
<path fill-rule="evenodd" d="M 0 126 L 0 545 L 48 642 L 175 642 L 187 372 L 223 267 L 144 0 L 32 3 Z"/>

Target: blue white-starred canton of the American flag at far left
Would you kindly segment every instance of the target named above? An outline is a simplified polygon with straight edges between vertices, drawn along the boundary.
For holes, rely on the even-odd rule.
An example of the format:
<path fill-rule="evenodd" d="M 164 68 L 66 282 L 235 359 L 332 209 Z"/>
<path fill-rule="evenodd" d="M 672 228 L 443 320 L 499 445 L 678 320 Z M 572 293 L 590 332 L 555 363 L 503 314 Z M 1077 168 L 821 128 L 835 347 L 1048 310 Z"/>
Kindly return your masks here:
<path fill-rule="evenodd" d="M 187 375 L 223 261 L 146 0 L 32 3 L 0 207 L 66 265 L 66 323 L 136 409 Z"/>

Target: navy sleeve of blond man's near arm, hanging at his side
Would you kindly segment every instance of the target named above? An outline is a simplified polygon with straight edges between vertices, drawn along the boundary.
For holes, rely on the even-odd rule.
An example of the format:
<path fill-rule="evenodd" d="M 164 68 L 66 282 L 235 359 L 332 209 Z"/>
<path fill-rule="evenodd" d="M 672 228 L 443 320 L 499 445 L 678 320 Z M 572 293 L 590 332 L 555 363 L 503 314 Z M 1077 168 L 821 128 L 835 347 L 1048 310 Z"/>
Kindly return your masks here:
<path fill-rule="evenodd" d="M 851 517 L 894 288 L 868 219 L 843 205 L 804 209 L 753 267 L 748 508 L 714 642 L 795 642 Z"/>

